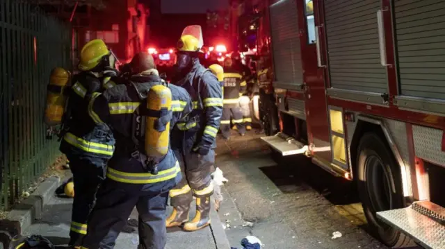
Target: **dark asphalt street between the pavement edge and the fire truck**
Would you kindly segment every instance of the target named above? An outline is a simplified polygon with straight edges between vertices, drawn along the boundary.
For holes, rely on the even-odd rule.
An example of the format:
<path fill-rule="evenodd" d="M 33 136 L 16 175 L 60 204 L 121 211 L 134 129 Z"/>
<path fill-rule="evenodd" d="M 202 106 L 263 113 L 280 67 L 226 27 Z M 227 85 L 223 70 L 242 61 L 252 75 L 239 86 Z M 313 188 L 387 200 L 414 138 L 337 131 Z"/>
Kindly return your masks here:
<path fill-rule="evenodd" d="M 268 249 L 387 248 L 366 232 L 352 182 L 304 156 L 277 160 L 259 137 L 218 140 L 216 166 L 229 180 L 219 215 L 232 246 L 254 235 Z"/>

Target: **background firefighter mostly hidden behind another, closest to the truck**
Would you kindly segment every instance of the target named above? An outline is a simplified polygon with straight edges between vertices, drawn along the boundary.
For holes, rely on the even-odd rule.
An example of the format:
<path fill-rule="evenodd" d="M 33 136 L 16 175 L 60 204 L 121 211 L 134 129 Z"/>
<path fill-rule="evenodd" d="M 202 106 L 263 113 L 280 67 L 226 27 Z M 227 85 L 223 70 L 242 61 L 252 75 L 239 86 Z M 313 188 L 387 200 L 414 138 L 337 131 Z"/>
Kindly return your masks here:
<path fill-rule="evenodd" d="M 252 130 L 252 117 L 250 117 L 250 92 L 252 89 L 252 71 L 250 68 L 243 64 L 241 61 L 241 54 L 237 51 L 233 52 L 232 55 L 230 55 L 230 58 L 232 58 L 233 67 L 237 71 L 241 71 L 243 75 L 243 80 L 246 82 L 246 90 L 245 93 L 243 93 L 243 96 L 240 98 L 240 108 L 241 112 L 243 112 L 243 125 L 245 127 L 245 130 Z M 233 126 L 232 128 L 236 129 L 236 126 Z"/>

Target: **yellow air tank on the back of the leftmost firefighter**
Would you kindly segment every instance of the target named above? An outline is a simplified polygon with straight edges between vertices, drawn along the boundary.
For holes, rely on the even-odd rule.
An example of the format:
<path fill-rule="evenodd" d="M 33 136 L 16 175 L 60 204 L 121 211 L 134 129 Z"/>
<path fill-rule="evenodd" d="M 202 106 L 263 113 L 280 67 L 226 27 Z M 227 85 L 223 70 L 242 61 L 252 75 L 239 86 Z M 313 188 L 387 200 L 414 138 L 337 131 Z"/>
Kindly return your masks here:
<path fill-rule="evenodd" d="M 56 67 L 51 71 L 47 87 L 47 106 L 44 110 L 44 123 L 47 126 L 58 126 L 62 123 L 67 94 L 65 89 L 70 83 L 70 72 Z"/>

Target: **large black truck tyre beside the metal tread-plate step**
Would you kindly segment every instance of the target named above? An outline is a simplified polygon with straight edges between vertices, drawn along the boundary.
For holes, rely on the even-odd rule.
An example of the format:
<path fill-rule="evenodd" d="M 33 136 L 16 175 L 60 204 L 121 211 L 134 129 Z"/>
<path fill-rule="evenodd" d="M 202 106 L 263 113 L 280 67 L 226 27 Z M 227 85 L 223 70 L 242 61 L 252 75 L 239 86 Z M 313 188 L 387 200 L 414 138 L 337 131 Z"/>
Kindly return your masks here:
<path fill-rule="evenodd" d="M 385 141 L 373 132 L 360 139 L 356 181 L 371 233 L 392 248 L 413 245 L 405 234 L 377 218 L 376 212 L 404 206 L 399 166 Z"/>

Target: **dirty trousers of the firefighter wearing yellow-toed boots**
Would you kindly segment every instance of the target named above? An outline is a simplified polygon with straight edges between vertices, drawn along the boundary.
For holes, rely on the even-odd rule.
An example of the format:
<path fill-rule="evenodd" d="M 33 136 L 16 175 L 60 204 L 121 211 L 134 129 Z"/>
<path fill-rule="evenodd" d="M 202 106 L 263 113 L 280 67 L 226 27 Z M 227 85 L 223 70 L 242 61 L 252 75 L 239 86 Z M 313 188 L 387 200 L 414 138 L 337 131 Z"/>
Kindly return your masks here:
<path fill-rule="evenodd" d="M 170 191 L 170 205 L 188 206 L 193 196 L 211 196 L 213 182 L 210 173 L 215 162 L 215 151 L 211 149 L 207 155 L 183 153 L 181 149 L 174 151 L 181 166 L 182 180 Z"/>

